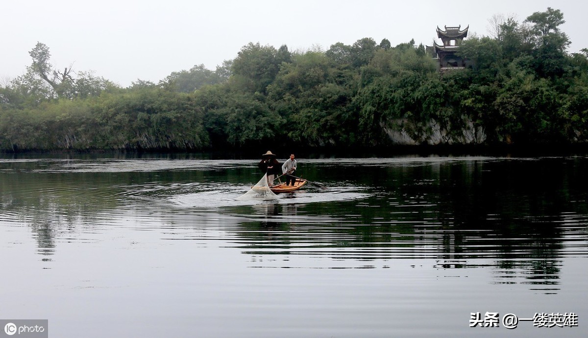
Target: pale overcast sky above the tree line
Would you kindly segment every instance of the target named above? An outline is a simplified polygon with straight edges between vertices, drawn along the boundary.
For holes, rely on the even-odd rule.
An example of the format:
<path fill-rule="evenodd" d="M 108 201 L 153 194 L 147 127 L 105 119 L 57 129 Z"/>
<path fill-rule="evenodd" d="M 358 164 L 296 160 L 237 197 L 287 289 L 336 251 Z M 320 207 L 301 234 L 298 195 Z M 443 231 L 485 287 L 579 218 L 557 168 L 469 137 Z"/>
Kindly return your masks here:
<path fill-rule="evenodd" d="M 201 63 L 215 70 L 249 42 L 290 50 L 362 38 L 432 45 L 437 26 L 469 25 L 470 33 L 489 35 L 488 19 L 497 13 L 522 22 L 547 7 L 563 12 L 569 52 L 588 48 L 584 0 L 3 1 L 0 85 L 25 73 L 37 42 L 49 47 L 56 68 L 73 63 L 75 71 L 93 70 L 126 87 Z"/>

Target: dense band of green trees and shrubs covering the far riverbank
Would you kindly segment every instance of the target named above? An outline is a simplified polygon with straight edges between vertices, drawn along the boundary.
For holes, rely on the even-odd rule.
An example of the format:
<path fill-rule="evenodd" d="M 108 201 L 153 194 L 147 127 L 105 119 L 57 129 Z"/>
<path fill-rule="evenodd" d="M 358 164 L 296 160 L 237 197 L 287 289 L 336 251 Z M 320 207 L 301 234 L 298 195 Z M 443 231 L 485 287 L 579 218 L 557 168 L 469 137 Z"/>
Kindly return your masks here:
<path fill-rule="evenodd" d="M 249 43 L 216 70 L 121 88 L 58 71 L 49 48 L 0 86 L 0 150 L 196 150 L 588 140 L 588 49 L 567 53 L 563 13 L 494 21 L 470 36 L 470 69 L 440 74 L 414 40 L 290 52 Z"/>

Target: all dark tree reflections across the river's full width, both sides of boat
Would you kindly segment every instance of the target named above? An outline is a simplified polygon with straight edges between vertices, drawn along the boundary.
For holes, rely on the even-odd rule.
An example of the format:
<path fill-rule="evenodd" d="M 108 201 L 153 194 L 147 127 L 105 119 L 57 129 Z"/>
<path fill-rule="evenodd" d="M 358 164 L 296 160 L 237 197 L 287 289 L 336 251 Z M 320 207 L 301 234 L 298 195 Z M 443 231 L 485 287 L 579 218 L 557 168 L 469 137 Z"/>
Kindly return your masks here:
<path fill-rule="evenodd" d="M 368 197 L 300 204 L 295 193 L 255 205 L 211 205 L 219 215 L 230 215 L 236 229 L 225 229 L 213 218 L 184 224 L 185 219 L 176 219 L 158 201 L 193 194 L 192 182 L 213 190 L 218 182 L 246 181 L 254 165 L 134 172 L 134 163 L 119 163 L 129 168 L 61 173 L 46 170 L 75 161 L 3 164 L 1 203 L 9 215 L 5 218 L 18 215 L 18 221 L 31 228 L 38 253 L 44 256 L 55 252 L 62 234 L 93 227 L 104 214 L 128 208 L 139 210 L 137 217 L 150 211 L 159 215 L 157 222 L 171 227 L 203 222 L 202 231 L 226 231 L 229 238 L 238 237 L 235 246 L 256 257 L 285 255 L 286 261 L 286 256 L 296 255 L 310 265 L 320 262 L 329 268 L 342 262 L 375 266 L 391 259 L 433 259 L 436 269 L 490 267 L 500 282 L 544 289 L 560 283 L 570 242 L 566 236 L 574 232 L 586 238 L 586 160 L 337 163 L 308 165 L 308 173 L 338 187 L 320 194 L 360 190 Z M 186 217 L 192 214 L 186 211 Z M 586 246 L 577 245 L 573 254 L 585 253 Z"/>

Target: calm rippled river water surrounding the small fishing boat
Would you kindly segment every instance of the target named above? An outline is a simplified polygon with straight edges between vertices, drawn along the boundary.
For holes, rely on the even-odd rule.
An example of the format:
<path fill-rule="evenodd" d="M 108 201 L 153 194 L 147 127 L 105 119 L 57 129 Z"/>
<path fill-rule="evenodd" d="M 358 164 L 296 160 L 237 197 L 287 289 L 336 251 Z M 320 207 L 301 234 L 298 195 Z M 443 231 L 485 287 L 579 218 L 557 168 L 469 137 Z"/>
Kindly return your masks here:
<path fill-rule="evenodd" d="M 0 159 L 0 319 L 51 337 L 588 335 L 587 157 L 298 161 L 301 190 L 239 200 L 255 159 Z"/>

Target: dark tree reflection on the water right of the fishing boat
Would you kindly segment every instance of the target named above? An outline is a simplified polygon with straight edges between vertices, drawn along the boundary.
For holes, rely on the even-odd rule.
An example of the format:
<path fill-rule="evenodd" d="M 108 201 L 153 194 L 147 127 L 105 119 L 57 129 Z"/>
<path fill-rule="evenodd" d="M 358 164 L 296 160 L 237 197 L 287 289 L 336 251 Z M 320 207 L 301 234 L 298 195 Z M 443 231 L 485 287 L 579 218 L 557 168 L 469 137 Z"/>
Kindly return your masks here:
<path fill-rule="evenodd" d="M 561 226 L 569 212 L 586 212 L 587 180 L 576 168 L 586 164 L 571 162 L 485 159 L 330 168 L 330 180 L 357 177 L 376 192 L 361 201 L 305 205 L 302 214 L 280 218 L 286 232 L 275 235 L 283 243 L 302 240 L 305 246 L 289 242 L 298 255 L 329 256 L 333 262 L 435 257 L 438 269 L 493 266 L 505 283 L 553 290 L 562 273 L 564 236 L 570 227 L 586 224 L 584 213 L 579 224 Z M 322 219 L 313 219 L 318 215 Z M 303 234 L 294 222 L 303 224 Z"/>

